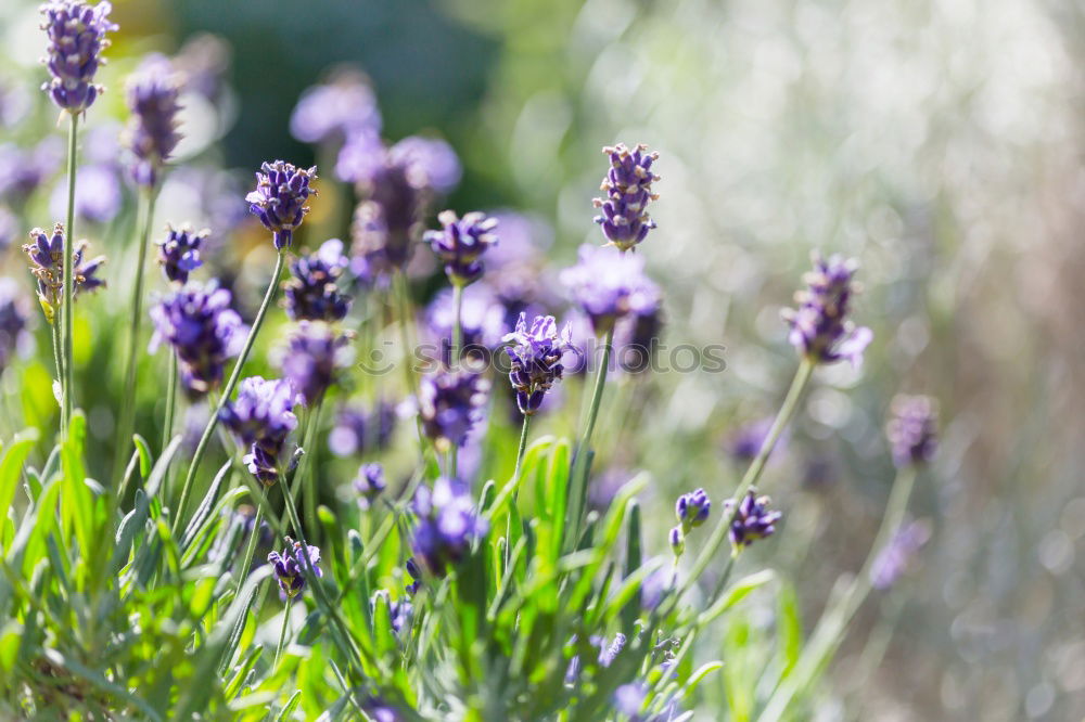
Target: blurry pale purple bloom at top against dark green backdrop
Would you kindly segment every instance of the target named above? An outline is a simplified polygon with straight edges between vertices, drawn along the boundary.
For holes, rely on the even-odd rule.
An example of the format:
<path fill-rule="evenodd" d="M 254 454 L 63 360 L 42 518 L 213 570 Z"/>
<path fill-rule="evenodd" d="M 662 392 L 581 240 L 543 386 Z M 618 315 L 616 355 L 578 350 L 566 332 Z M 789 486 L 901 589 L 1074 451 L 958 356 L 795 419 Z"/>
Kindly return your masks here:
<path fill-rule="evenodd" d="M 305 143 L 339 145 L 380 130 L 376 96 L 369 79 L 355 69 L 341 69 L 327 83 L 307 88 L 290 116 L 291 134 Z"/>

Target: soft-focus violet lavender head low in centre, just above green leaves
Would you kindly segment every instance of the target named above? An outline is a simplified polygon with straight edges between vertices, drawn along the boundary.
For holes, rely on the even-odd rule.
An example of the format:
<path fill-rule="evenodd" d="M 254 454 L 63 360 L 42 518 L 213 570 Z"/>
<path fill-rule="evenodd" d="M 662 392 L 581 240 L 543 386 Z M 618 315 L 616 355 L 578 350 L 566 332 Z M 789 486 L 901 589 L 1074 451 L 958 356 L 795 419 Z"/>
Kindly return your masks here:
<path fill-rule="evenodd" d="M 413 508 L 418 526 L 411 549 L 430 573 L 438 577 L 462 559 L 471 542 L 488 529 L 486 520 L 475 512 L 468 486 L 459 480 L 439 477 L 432 490 L 420 487 Z"/>

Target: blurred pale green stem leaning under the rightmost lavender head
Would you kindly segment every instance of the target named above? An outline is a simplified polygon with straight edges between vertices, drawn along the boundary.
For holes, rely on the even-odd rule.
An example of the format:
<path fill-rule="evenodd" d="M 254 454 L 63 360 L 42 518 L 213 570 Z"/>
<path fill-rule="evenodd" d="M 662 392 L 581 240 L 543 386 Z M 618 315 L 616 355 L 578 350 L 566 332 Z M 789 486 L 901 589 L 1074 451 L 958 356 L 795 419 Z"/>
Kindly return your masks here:
<path fill-rule="evenodd" d="M 765 711 L 758 718 L 763 722 L 774 722 L 781 719 L 795 696 L 802 694 L 814 682 L 840 646 L 847 623 L 867 598 L 867 594 L 870 593 L 870 570 L 875 562 L 901 529 L 915 481 L 915 466 L 907 466 L 897 472 L 889 501 L 885 503 L 885 515 L 882 517 L 878 534 L 875 537 L 875 542 L 870 546 L 863 568 L 852 579 L 847 590 L 839 595 L 821 615 L 821 619 L 814 628 L 802 656 L 795 662 L 794 670 L 769 697 Z"/>

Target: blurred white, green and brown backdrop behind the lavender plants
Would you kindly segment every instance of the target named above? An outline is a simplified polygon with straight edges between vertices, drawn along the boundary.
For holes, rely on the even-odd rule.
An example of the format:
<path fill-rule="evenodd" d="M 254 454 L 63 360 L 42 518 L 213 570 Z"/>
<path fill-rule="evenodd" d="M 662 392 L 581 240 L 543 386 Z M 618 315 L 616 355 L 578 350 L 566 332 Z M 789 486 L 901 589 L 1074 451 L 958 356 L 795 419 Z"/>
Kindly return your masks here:
<path fill-rule="evenodd" d="M 0 79 L 31 90 L 43 76 L 35 4 L 0 7 Z M 860 372 L 819 372 L 763 482 L 786 513 L 781 533 L 743 564 L 789 573 L 808 628 L 877 529 L 892 478 L 882 438 L 892 396 L 937 397 L 944 441 L 912 503 L 933 538 L 898 586 L 866 605 L 818 719 L 1085 714 L 1080 3 L 114 4 L 123 33 L 93 123 L 124 118 L 120 78 L 141 54 L 214 34 L 228 51 L 227 87 L 217 111 L 201 116 L 206 127 L 188 129 L 203 139 L 192 157 L 242 169 L 242 188 L 264 159 L 318 160 L 291 138 L 289 118 L 302 90 L 340 63 L 372 79 L 385 137 L 432 130 L 457 150 L 464 179 L 450 207 L 511 207 L 545 220 L 557 268 L 579 243 L 599 241 L 589 203 L 605 168 L 599 149 L 643 142 L 660 152 L 660 229 L 641 253 L 664 288 L 664 340 L 723 343 L 728 369 L 623 379 L 603 408 L 603 463 L 653 474 L 658 553 L 674 494 L 704 486 L 718 499 L 733 488 L 727 440 L 775 410 L 795 364 L 778 313 L 810 249 L 859 258 L 856 315 L 876 341 Z M 214 60 L 207 47 L 196 56 Z M 2 140 L 51 132 L 53 109 L 33 94 L 35 121 L 0 130 L 12 136 Z M 44 195 L 23 209 L 40 218 L 35 224 L 52 222 Z M 349 207 L 336 205 L 342 194 L 328 196 L 315 218 L 327 212 L 334 228 Z M 130 205 L 79 235 L 119 248 Z M 184 220 L 170 216 L 177 208 L 159 208 L 162 220 Z M 233 243 L 247 243 L 245 234 Z M 4 252 L 8 275 L 25 272 L 18 238 Z M 225 250 L 244 259 L 234 269 L 243 299 L 259 293 L 264 250 Z M 131 262 L 112 250 L 111 283 L 123 286 Z M 256 284 L 247 291 L 246 274 Z M 108 323 L 93 310 L 126 298 L 111 297 L 90 299 L 80 314 L 88 375 L 120 373 L 111 345 L 91 343 Z M 41 325 L 39 350 L 48 348 Z M 7 377 L 29 422 L 51 413 L 48 374 L 31 365 Z M 43 399 L 34 390 L 42 383 Z M 628 398 L 648 411 L 620 433 Z M 751 623 L 769 627 L 773 614 L 766 607 Z M 864 655 L 886 630 L 895 634 L 872 668 Z M 718 685 L 710 700 L 726 694 Z"/>

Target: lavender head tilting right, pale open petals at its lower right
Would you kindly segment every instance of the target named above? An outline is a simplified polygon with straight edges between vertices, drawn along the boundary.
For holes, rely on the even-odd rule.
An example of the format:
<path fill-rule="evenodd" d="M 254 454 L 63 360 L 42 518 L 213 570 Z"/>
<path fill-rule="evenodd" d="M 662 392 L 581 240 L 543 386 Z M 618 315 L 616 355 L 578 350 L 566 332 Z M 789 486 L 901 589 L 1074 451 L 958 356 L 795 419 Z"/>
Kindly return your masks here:
<path fill-rule="evenodd" d="M 795 294 L 797 309 L 787 309 L 783 320 L 791 326 L 788 340 L 799 352 L 815 363 L 832 363 L 847 359 L 858 368 L 863 351 L 873 333 L 856 327 L 847 318 L 852 295 L 857 286 L 852 281 L 858 263 L 854 259 L 831 256 L 828 260 L 814 255 L 814 270 L 803 279 L 807 287 Z"/>

